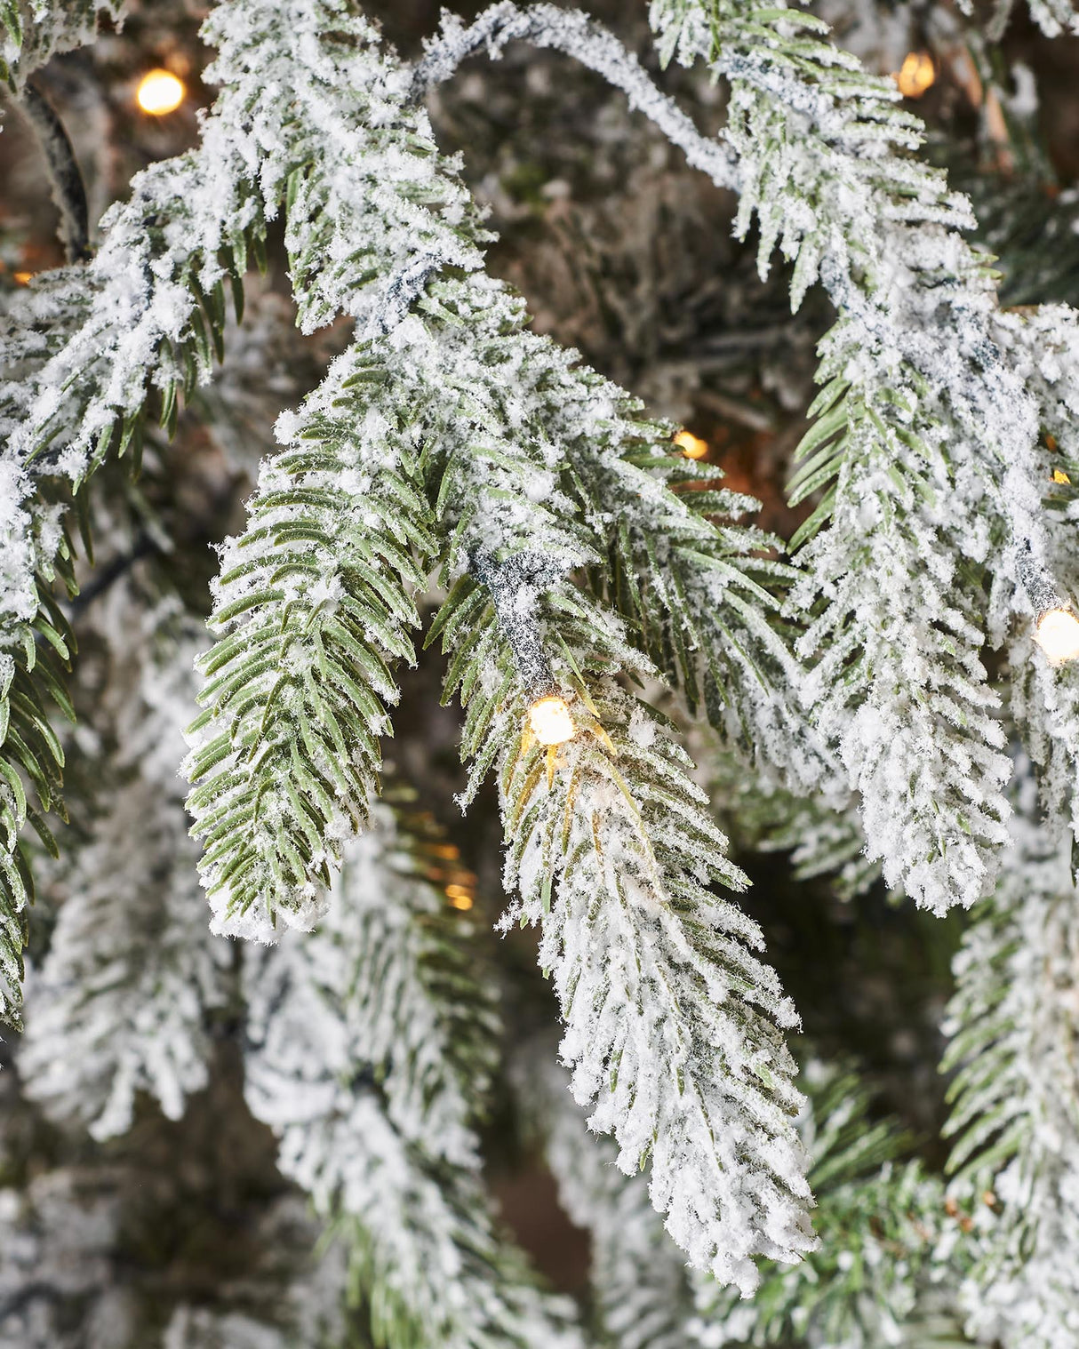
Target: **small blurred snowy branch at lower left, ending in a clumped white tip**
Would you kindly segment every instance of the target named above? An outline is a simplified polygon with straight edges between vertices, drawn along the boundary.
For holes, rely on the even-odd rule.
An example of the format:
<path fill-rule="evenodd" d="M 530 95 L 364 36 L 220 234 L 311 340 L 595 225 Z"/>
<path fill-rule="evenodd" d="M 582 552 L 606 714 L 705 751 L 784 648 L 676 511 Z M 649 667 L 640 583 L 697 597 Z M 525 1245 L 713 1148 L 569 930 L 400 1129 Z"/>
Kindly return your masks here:
<path fill-rule="evenodd" d="M 206 931 L 175 776 L 196 625 L 166 604 L 136 633 L 129 599 L 109 599 L 113 639 L 123 633 L 148 649 L 115 672 L 115 724 L 97 727 L 123 749 L 98 784 L 89 838 L 57 869 L 66 896 L 30 983 L 19 1058 L 28 1094 L 96 1139 L 131 1126 L 136 1091 L 169 1118 L 182 1116 L 185 1098 L 206 1085 L 209 1016 L 228 996 L 228 952 Z"/>

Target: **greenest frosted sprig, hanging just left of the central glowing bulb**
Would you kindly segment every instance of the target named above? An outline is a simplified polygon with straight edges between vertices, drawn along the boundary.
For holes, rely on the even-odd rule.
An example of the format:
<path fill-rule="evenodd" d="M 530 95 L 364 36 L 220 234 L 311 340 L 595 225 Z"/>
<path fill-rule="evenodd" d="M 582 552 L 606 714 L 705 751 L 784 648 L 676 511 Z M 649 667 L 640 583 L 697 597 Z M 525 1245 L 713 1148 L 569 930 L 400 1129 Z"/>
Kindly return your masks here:
<path fill-rule="evenodd" d="M 353 349 L 282 418 L 287 448 L 223 553 L 212 623 L 227 635 L 201 662 L 185 765 L 217 931 L 310 927 L 370 809 L 397 700 L 387 662 L 413 658 L 413 595 L 436 548 L 407 422 L 363 394 L 383 379 Z M 351 414 L 364 403 L 366 421 Z"/>

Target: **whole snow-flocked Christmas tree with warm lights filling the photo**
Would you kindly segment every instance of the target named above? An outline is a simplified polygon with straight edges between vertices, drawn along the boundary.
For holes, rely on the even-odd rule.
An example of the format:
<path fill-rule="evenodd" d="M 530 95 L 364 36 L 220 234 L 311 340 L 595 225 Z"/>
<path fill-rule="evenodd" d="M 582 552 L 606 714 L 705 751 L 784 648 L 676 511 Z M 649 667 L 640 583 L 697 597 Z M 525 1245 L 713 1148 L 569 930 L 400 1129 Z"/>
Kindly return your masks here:
<path fill-rule="evenodd" d="M 1047 31 L 1057 8 L 1039 7 Z M 136 1091 L 182 1116 L 206 1081 L 205 1010 L 235 996 L 233 950 L 210 934 L 243 938 L 245 1098 L 340 1237 L 376 1344 L 569 1346 L 595 1329 L 642 1349 L 846 1346 L 966 1325 L 1074 1345 L 1075 312 L 1002 310 L 968 205 L 918 158 L 892 81 L 811 15 L 742 0 L 650 8 L 664 65 L 727 82 L 719 139 L 575 11 L 446 16 L 409 65 L 347 0 L 228 0 L 204 27 L 218 93 L 197 148 L 139 173 L 90 248 L 34 71 L 93 40 L 98 9 L 123 5 L 0 4 L 3 76 L 40 131 L 69 251 L 5 298 L 0 328 L 13 1023 L 28 828 L 66 854 L 27 1090 L 100 1139 L 128 1128 Z M 749 523 L 755 503 L 682 455 L 677 428 L 530 332 L 486 270 L 491 235 L 424 103 L 511 40 L 584 62 L 736 192 L 736 229 L 757 228 L 762 275 L 777 251 L 790 264 L 794 309 L 827 294 L 790 487 L 815 509 L 792 540 Z M 214 378 L 229 295 L 239 316 L 275 229 L 301 329 L 344 317 L 351 340 L 276 420 L 220 553 L 212 639 L 175 603 L 112 596 L 108 622 L 140 633 L 103 712 L 121 753 L 109 809 L 69 849 L 45 816 L 62 813 L 67 600 L 108 529 L 98 484 Z M 380 782 L 419 642 L 445 653 L 463 711 L 461 804 L 498 782 L 502 924 L 538 928 L 557 994 L 561 1043 L 514 1072 L 592 1233 L 592 1329 L 533 1279 L 484 1194 L 498 1013 L 446 908 L 472 882 Z M 697 727 L 703 774 L 664 708 Z M 846 1067 L 803 1054 L 798 1074 L 797 1012 L 699 785 L 722 773 L 784 803 L 807 866 L 847 846 L 862 881 L 881 871 L 936 915 L 975 907 L 948 1016 L 947 1194 L 896 1160 Z M 135 931 L 125 894 L 147 889 L 161 907 Z M 185 1340 L 192 1315 L 167 1342 L 245 1342 L 236 1326 Z"/>

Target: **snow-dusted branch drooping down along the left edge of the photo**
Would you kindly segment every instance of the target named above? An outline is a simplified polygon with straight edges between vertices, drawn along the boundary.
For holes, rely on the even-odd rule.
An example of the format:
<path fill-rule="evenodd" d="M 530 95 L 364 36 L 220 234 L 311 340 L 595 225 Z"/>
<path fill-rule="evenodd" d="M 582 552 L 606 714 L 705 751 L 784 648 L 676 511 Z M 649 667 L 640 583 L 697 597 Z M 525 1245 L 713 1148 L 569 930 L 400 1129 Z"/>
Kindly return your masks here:
<path fill-rule="evenodd" d="M 192 178 L 181 171 L 181 198 L 185 189 L 194 192 L 201 173 L 194 156 L 186 170 Z M 163 387 L 161 418 L 171 428 L 179 380 L 193 387 L 209 368 L 210 339 L 200 302 L 190 291 L 181 299 L 183 286 L 198 289 L 197 248 L 177 244 L 171 258 L 161 259 L 167 233 L 162 220 L 175 205 L 167 169 L 147 171 L 142 183 L 147 197 L 152 198 L 154 185 L 163 198 L 159 205 L 166 204 L 162 216 L 144 214 L 136 194 L 131 206 L 113 212 L 116 232 L 107 236 L 89 266 L 40 278 L 11 297 L 0 318 L 0 434 L 5 441 L 0 459 L 5 491 L 0 660 L 11 662 L 11 673 L 0 676 L 0 726 L 8 727 L 0 755 L 11 770 L 0 784 L 5 835 L 0 911 L 9 916 L 32 894 L 18 842 L 26 819 L 26 784 L 16 784 L 16 778 L 26 776 L 43 811 L 59 803 L 63 761 L 53 743 L 46 708 L 53 704 L 70 714 L 65 673 L 73 642 L 50 594 L 54 580 L 63 583 L 69 598 L 78 588 L 67 519 L 77 519 L 89 552 L 86 476 L 107 457 L 127 451 L 138 464 L 151 391 Z M 189 204 L 192 200 L 189 196 Z M 189 204 L 177 219 L 190 217 Z M 192 243 L 190 235 L 186 241 Z M 161 271 L 151 263 L 155 255 L 163 262 Z M 142 281 L 142 294 L 132 278 Z M 221 301 L 220 310 L 216 301 L 206 301 L 214 313 L 212 329 L 220 335 L 224 295 L 214 287 L 212 294 Z M 62 816 L 62 805 L 57 809 Z M 5 939 L 3 946 L 11 971 L 18 966 L 18 944 Z M 0 1000 L 0 1016 L 16 1014 L 13 997 Z"/>

